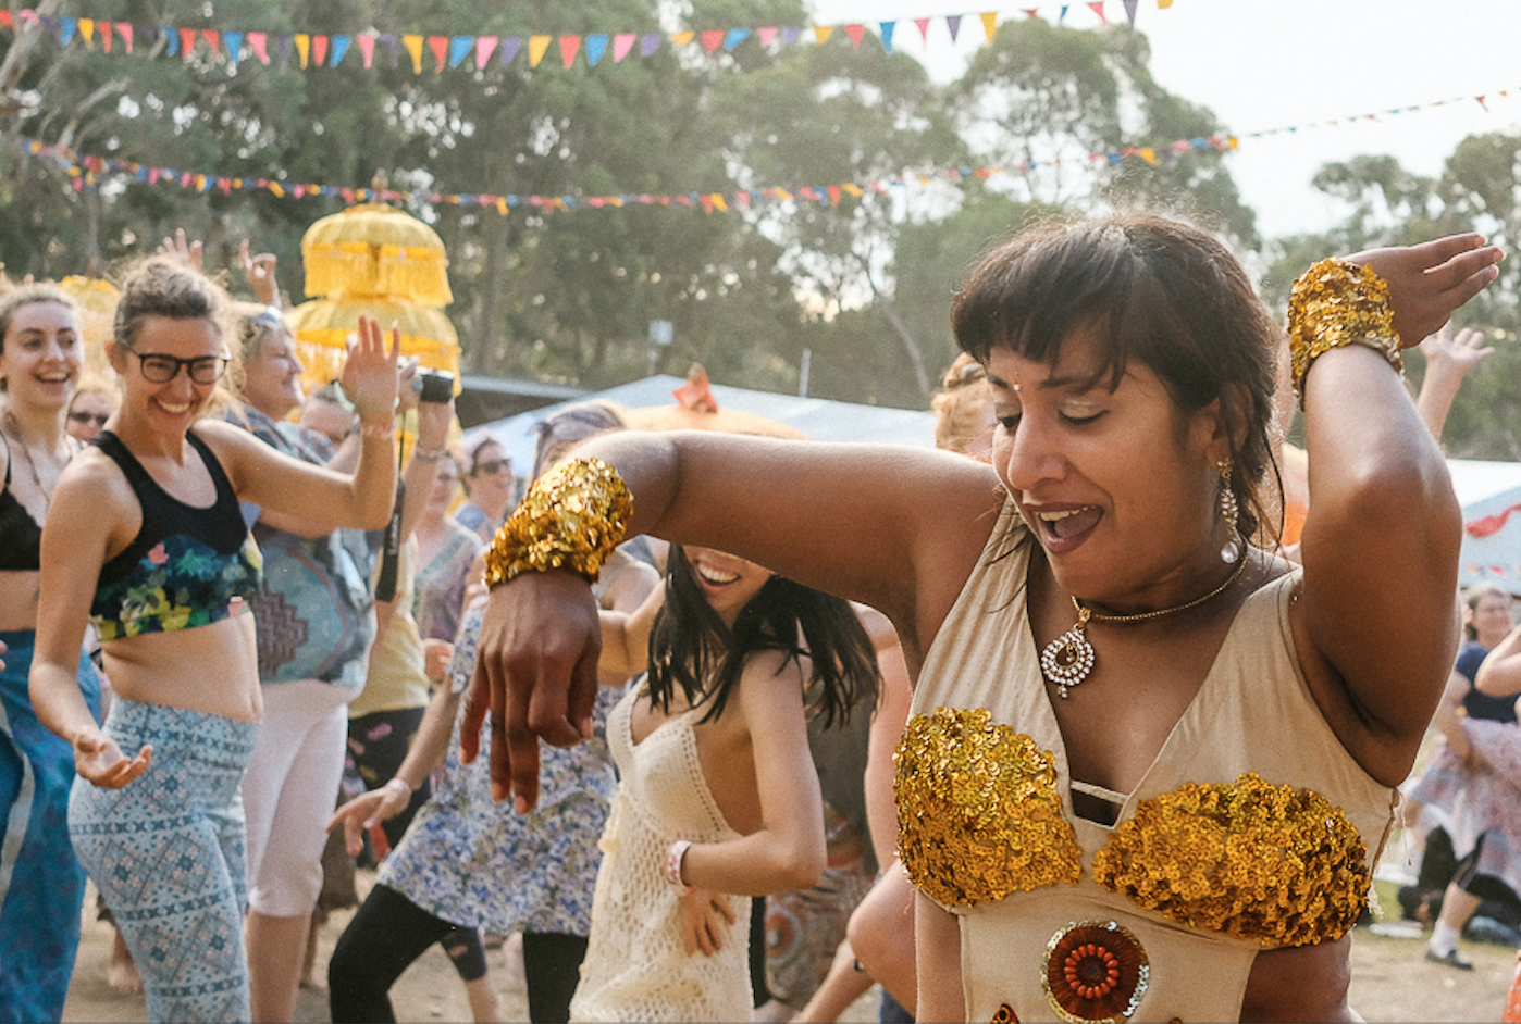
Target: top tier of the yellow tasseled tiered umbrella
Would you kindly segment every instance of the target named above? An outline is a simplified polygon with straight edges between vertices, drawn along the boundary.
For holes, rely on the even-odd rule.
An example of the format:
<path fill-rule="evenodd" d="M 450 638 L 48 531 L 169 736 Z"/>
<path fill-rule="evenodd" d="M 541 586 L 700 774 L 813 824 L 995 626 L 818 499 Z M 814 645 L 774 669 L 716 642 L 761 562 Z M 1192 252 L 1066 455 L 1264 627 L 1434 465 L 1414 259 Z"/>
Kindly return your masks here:
<path fill-rule="evenodd" d="M 438 232 L 411 214 L 367 202 L 322 217 L 301 239 L 312 298 L 389 295 L 449 305 L 449 257 Z"/>

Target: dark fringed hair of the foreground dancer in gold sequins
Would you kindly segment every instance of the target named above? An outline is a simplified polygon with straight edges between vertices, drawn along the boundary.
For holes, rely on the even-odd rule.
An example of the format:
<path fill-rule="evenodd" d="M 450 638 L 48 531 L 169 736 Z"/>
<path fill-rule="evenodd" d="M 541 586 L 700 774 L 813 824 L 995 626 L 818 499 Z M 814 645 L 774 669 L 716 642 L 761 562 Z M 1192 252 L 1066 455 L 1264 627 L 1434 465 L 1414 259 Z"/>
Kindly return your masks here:
<path fill-rule="evenodd" d="M 1100 377 L 1112 387 L 1135 359 L 1185 413 L 1220 401 L 1238 529 L 1275 541 L 1282 483 L 1269 428 L 1279 328 L 1230 251 L 1208 231 L 1156 214 L 1048 220 L 993 249 L 951 310 L 957 343 L 983 365 L 995 348 L 1054 362 L 1083 327 L 1095 328 L 1106 356 Z"/>

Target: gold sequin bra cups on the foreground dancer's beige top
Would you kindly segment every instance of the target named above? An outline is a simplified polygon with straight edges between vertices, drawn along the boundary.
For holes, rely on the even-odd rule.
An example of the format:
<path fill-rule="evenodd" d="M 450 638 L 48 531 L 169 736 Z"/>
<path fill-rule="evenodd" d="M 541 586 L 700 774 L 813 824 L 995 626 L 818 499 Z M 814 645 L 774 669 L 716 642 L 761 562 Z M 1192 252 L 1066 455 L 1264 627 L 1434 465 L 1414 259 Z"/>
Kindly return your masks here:
<path fill-rule="evenodd" d="M 925 895 L 973 905 L 1077 884 L 1083 851 L 1056 758 L 989 711 L 914 716 L 897 757 L 899 855 Z M 1299 947 L 1340 939 L 1370 884 L 1357 828 L 1323 796 L 1255 773 L 1141 801 L 1094 881 L 1194 928 Z"/>

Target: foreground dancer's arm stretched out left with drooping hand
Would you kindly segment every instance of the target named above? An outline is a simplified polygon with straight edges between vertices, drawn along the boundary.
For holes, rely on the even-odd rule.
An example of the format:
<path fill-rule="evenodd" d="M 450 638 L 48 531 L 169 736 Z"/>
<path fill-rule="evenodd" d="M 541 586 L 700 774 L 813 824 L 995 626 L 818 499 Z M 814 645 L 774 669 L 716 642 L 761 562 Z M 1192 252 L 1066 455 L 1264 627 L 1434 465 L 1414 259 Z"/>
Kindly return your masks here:
<path fill-rule="evenodd" d="M 911 667 L 981 553 L 1004 494 L 992 468 L 920 448 L 625 431 L 590 441 L 578 456 L 605 460 L 627 483 L 628 535 L 732 552 L 879 608 Z M 546 512 L 534 521 L 567 524 L 569 535 L 584 518 Z M 520 808 L 532 807 L 538 738 L 566 746 L 587 734 L 599 646 L 596 609 L 573 573 L 525 571 L 493 589 L 461 728 L 475 757 L 493 713 L 497 799 L 516 792 Z"/>

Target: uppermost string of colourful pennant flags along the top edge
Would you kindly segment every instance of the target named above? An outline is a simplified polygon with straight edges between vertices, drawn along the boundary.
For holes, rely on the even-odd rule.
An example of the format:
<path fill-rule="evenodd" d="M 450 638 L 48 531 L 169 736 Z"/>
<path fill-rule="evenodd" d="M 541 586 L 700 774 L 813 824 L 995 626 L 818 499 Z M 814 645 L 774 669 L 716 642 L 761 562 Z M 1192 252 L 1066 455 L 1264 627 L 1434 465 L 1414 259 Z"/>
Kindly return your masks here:
<path fill-rule="evenodd" d="M 1112 0 L 1089 0 L 1086 3 L 1059 5 L 1054 14 L 1057 23 L 1063 23 L 1068 11 L 1078 8 L 1098 17 L 1098 21 L 1109 24 L 1109 8 Z M 1124 8 L 1126 21 L 1135 27 L 1136 12 L 1141 0 L 1119 0 Z M 1173 6 L 1173 0 L 1156 0 L 1159 9 Z M 1051 8 L 1022 8 L 1019 15 L 1027 18 L 1053 17 Z M 353 32 L 353 33 L 313 33 L 313 32 L 260 32 L 252 29 L 205 29 L 164 24 L 143 24 L 132 21 L 111 21 L 108 18 L 79 18 L 65 15 L 46 15 L 37 11 L 0 8 L 0 29 L 20 32 L 29 26 L 44 29 L 59 47 L 82 46 L 102 53 L 131 55 L 138 49 L 158 52 L 184 61 L 196 56 L 211 62 L 227 62 L 233 67 L 246 61 L 257 61 L 263 65 L 278 64 L 289 67 L 295 59 L 303 70 L 321 67 L 339 67 L 345 61 L 353 65 L 350 53 L 357 52 L 357 59 L 365 68 L 374 67 L 376 56 L 388 61 L 389 67 L 399 67 L 402 58 L 408 58 L 415 74 L 421 74 L 432 56 L 435 73 L 444 68 L 462 65 L 475 70 L 485 70 L 493 61 L 502 67 L 538 68 L 551 55 L 558 56 L 558 62 L 566 70 L 576 67 L 580 61 L 586 67 L 598 67 L 604 62 L 622 64 L 625 59 L 653 58 L 665 47 L 684 50 L 692 46 L 701 47 L 707 55 L 719 50 L 733 52 L 739 46 L 759 46 L 767 52 L 776 52 L 808 40 L 817 44 L 827 43 L 838 30 L 852 46 L 859 47 L 867 36 L 875 36 L 882 49 L 893 52 L 896 30 L 902 23 L 911 23 L 919 29 L 920 40 L 929 41 L 931 26 L 945 23 L 952 43 L 961 33 L 963 23 L 972 20 L 980 23 L 986 40 L 992 41 L 998 29 L 1001 12 L 984 11 L 980 14 L 951 14 L 934 18 L 903 18 L 876 23 L 852 23 L 840 26 L 768 26 L 768 27 L 727 27 L 727 29 L 686 29 L 681 32 L 590 32 L 590 33 L 529 33 L 529 35 L 441 35 L 441 33 L 394 33 L 394 32 Z M 519 56 L 522 55 L 522 61 Z M 552 65 L 555 61 L 551 59 Z"/>

